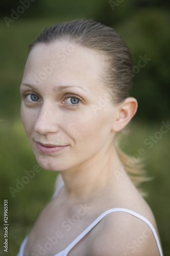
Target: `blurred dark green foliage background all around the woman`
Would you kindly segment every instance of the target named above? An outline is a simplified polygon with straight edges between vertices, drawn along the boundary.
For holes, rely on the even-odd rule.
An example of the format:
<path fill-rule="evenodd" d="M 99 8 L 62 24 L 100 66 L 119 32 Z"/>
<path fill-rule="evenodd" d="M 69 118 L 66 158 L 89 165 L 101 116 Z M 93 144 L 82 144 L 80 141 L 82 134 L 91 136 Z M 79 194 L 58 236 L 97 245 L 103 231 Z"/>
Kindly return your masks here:
<path fill-rule="evenodd" d="M 140 147 L 147 152 L 148 175 L 155 179 L 143 185 L 149 191 L 146 200 L 157 220 L 164 255 L 170 254 L 169 132 L 163 134 L 151 150 L 143 144 L 146 138 L 160 131 L 161 121 L 169 119 L 169 3 L 165 0 L 129 0 L 111 8 L 109 1 L 105 0 L 36 0 L 8 28 L 4 16 L 11 18 L 11 9 L 17 10 L 21 4 L 17 0 L 1 1 L 0 121 L 4 121 L 0 122 L 0 192 L 1 209 L 4 199 L 9 200 L 8 255 L 16 255 L 39 212 L 50 200 L 57 175 L 41 170 L 14 198 L 9 191 L 10 186 L 16 186 L 16 179 L 21 180 L 25 176 L 25 170 L 32 170 L 37 164 L 19 119 L 19 85 L 27 47 L 45 26 L 79 18 L 92 18 L 112 26 L 127 42 L 134 66 L 138 65 L 140 56 L 146 55 L 151 59 L 134 76 L 131 95 L 137 98 L 139 107 L 125 148 L 128 154 L 135 154 Z M 3 215 L 1 211 L 1 220 Z M 0 235 L 3 243 L 2 229 Z M 0 248 L 0 254 L 3 252 Z"/>

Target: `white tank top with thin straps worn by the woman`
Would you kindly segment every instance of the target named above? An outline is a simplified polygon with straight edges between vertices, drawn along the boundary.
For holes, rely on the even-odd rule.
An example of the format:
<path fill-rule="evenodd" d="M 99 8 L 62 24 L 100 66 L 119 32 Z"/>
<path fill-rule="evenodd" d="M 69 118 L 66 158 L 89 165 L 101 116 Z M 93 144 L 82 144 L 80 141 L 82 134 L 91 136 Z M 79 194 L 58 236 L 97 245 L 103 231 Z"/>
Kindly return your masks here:
<path fill-rule="evenodd" d="M 58 193 L 59 193 L 59 190 L 61 189 L 61 187 L 64 185 L 64 182 L 62 182 L 58 188 L 56 189 L 54 195 L 52 198 L 55 198 Z M 95 221 L 93 221 L 74 241 L 72 241 L 72 243 L 70 243 L 63 251 L 60 251 L 59 253 L 55 254 L 54 256 L 66 256 L 68 255 L 68 252 L 83 238 L 86 236 L 86 234 L 95 226 L 97 225 L 106 215 L 110 214 L 111 212 L 115 212 L 115 211 L 124 211 L 124 212 L 127 212 L 128 214 L 131 214 L 135 217 L 137 217 L 138 219 L 144 221 L 146 224 L 148 224 L 148 226 L 151 228 L 153 234 L 154 234 L 154 237 L 155 237 L 155 240 L 156 240 L 156 243 L 157 243 L 157 246 L 158 246 L 158 250 L 159 250 L 159 253 L 160 253 L 160 256 L 163 256 L 163 253 L 162 253 L 162 249 L 161 249 L 161 246 L 160 246 L 160 243 L 159 243 L 159 239 L 158 239 L 158 236 L 157 236 L 157 233 L 155 231 L 155 228 L 153 227 L 153 225 L 151 224 L 151 222 L 149 220 L 147 220 L 146 218 L 144 218 L 143 216 L 137 214 L 136 212 L 132 211 L 132 210 L 128 210 L 128 209 L 124 209 L 124 208 L 113 208 L 113 209 L 109 209 L 105 212 L 103 212 L 103 214 L 101 214 L 97 219 L 95 219 Z M 28 241 L 28 234 L 27 236 L 25 237 L 25 239 L 23 240 L 21 246 L 20 246 L 20 249 L 19 249 L 19 252 L 17 254 L 17 256 L 24 256 L 23 254 L 23 251 L 24 251 L 24 248 L 25 248 L 25 245 Z"/>

